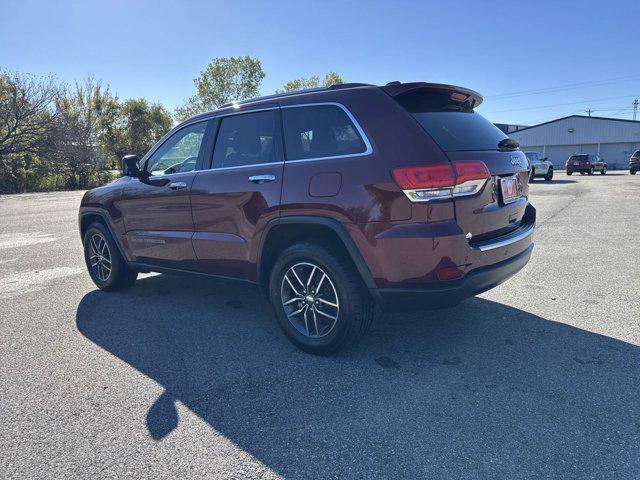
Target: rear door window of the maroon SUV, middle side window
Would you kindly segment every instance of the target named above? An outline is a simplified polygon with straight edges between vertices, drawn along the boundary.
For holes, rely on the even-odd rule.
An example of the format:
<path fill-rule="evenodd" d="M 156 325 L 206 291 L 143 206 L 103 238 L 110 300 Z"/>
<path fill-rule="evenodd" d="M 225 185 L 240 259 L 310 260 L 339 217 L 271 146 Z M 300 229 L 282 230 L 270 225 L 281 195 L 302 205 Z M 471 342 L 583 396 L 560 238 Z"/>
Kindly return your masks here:
<path fill-rule="evenodd" d="M 213 150 L 213 168 L 275 162 L 276 111 L 222 117 Z"/>

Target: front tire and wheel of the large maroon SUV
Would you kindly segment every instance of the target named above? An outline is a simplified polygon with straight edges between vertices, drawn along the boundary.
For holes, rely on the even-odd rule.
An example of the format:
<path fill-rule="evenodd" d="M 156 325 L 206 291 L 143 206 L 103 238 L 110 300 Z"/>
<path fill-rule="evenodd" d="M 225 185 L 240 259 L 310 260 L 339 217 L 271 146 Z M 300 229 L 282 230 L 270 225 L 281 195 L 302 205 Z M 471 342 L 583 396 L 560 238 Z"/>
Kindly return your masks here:
<path fill-rule="evenodd" d="M 83 245 L 87 270 L 100 290 L 124 290 L 138 278 L 138 274 L 122 258 L 109 229 L 102 223 L 95 222 L 89 226 L 84 234 Z"/>

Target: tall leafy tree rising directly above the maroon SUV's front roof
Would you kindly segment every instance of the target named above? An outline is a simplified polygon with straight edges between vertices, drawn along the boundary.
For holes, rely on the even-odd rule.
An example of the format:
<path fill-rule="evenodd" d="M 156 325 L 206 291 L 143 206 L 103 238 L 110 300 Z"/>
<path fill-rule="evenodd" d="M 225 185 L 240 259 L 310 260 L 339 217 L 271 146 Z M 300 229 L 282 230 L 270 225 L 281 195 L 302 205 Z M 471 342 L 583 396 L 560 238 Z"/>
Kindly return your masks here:
<path fill-rule="evenodd" d="M 234 100 L 257 97 L 264 76 L 257 58 L 248 55 L 214 58 L 193 80 L 196 93 L 176 109 L 175 116 L 184 120 Z"/>

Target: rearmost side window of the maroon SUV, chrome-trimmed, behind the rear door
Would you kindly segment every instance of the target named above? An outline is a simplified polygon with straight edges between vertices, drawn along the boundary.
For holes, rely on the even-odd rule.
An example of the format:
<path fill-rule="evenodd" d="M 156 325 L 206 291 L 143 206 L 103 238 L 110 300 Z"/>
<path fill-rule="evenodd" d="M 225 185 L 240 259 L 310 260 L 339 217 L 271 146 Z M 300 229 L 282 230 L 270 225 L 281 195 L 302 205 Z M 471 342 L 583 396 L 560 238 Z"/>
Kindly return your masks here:
<path fill-rule="evenodd" d="M 288 160 L 364 153 L 366 145 L 349 116 L 335 105 L 282 109 Z"/>

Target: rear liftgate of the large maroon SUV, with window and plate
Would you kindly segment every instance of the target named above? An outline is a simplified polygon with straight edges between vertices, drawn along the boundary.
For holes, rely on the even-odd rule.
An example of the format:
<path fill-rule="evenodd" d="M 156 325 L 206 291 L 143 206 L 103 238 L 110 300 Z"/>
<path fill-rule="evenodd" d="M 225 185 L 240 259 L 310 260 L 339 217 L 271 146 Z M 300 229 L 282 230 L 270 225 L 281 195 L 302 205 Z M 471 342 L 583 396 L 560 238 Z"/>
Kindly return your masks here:
<path fill-rule="evenodd" d="M 529 195 L 524 153 L 510 146 L 501 130 L 472 109 L 438 106 L 432 104 L 412 114 L 451 161 L 480 160 L 491 175 L 480 193 L 454 199 L 457 223 L 476 240 L 517 228 Z M 515 196 L 507 198 L 505 192 Z"/>

